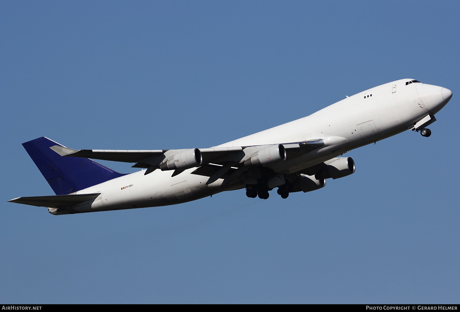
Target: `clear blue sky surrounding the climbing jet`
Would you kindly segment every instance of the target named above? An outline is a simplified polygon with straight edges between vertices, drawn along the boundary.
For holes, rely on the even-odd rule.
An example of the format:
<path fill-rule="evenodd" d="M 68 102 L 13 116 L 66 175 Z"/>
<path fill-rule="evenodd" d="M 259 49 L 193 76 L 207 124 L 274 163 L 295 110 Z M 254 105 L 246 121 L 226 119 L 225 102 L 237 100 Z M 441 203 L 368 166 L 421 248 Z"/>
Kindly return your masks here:
<path fill-rule="evenodd" d="M 458 1 L 2 1 L 0 301 L 458 303 Z M 52 216 L 21 143 L 204 148 L 402 78 L 449 88 L 432 135 L 352 150 L 282 200 Z M 129 164 L 104 162 L 123 172 Z"/>

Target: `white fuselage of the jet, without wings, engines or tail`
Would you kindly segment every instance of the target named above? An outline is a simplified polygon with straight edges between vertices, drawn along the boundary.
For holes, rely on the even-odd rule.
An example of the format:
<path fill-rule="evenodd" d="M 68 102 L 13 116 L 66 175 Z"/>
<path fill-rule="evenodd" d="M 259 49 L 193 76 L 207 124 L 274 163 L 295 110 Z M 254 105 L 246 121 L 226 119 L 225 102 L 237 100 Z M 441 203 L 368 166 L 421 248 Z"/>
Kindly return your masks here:
<path fill-rule="evenodd" d="M 322 148 L 270 166 L 277 173 L 294 173 L 357 147 L 401 133 L 423 117 L 434 115 L 452 95 L 448 89 L 439 86 L 422 83 L 406 85 L 411 80 L 382 84 L 310 116 L 217 147 L 324 139 L 325 145 Z M 446 100 L 446 97 L 449 99 Z M 142 170 L 115 178 L 72 193 L 101 193 L 94 201 L 74 206 L 73 209 L 75 212 L 90 212 L 173 205 L 244 187 L 244 184 L 232 184 L 223 189 L 222 178 L 206 185 L 208 177 L 191 174 L 195 169 L 187 169 L 174 177 L 171 177 L 171 171 L 155 170 L 144 175 Z"/>

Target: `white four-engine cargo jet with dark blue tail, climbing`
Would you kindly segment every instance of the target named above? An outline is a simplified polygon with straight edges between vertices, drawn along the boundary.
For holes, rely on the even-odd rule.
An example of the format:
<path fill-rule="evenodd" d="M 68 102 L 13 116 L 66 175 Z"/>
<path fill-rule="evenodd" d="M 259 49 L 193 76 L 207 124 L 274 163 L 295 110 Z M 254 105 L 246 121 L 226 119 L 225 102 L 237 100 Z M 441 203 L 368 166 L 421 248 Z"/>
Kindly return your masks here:
<path fill-rule="evenodd" d="M 268 199 L 277 188 L 287 198 L 354 173 L 353 159 L 339 157 L 350 150 L 406 130 L 429 137 L 426 127 L 451 98 L 449 89 L 401 79 L 211 148 L 74 150 L 41 137 L 23 146 L 56 195 L 10 202 L 63 215 L 175 205 L 236 189 Z M 92 159 L 135 163 L 132 167 L 142 169 L 123 174 Z"/>

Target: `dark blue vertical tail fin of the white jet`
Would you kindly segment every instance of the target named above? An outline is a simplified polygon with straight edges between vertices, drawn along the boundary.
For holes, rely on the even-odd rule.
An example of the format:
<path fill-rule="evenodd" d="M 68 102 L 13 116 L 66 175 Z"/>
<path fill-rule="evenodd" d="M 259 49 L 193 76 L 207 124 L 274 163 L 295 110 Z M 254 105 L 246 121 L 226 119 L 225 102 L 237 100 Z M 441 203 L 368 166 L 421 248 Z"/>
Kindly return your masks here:
<path fill-rule="evenodd" d="M 56 195 L 73 193 L 125 175 L 88 158 L 60 156 L 50 149 L 55 145 L 60 144 L 45 137 L 23 143 Z"/>

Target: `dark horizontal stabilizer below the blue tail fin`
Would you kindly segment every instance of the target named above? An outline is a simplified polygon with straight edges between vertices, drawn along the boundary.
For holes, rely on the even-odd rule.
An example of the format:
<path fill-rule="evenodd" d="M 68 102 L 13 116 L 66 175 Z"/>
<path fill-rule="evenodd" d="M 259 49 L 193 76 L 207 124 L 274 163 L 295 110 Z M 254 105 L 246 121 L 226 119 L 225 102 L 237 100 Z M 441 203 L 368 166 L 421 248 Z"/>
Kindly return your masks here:
<path fill-rule="evenodd" d="M 12 199 L 9 202 L 39 207 L 63 208 L 68 206 L 75 206 L 84 203 L 85 201 L 90 201 L 93 198 L 98 197 L 99 194 L 100 193 L 18 197 Z"/>

